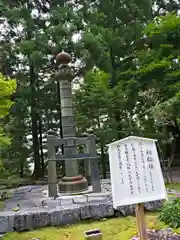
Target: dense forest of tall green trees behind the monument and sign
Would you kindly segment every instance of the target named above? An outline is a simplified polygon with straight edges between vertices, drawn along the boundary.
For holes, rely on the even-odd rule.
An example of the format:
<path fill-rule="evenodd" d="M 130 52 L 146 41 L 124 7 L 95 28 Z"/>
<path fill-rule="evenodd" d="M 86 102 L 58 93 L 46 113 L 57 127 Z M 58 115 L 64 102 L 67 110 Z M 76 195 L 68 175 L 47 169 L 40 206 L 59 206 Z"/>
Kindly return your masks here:
<path fill-rule="evenodd" d="M 0 111 L 14 102 L 0 115 L 1 176 L 29 176 L 32 164 L 34 179 L 46 175 L 47 131 L 61 134 L 62 50 L 76 70 L 77 135 L 96 135 L 103 177 L 106 145 L 129 135 L 158 139 L 160 157 L 178 160 L 179 10 L 174 0 L 1 0 L 1 78 L 16 79 L 16 91 L 0 95 Z"/>

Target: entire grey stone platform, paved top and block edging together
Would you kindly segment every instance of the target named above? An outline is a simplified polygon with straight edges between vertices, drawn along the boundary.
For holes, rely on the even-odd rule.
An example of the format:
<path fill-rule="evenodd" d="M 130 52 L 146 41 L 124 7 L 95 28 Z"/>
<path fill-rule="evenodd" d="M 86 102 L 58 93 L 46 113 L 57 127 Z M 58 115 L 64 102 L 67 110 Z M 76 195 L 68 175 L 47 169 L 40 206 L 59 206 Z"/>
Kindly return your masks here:
<path fill-rule="evenodd" d="M 12 198 L 5 202 L 0 213 L 0 233 L 24 231 L 45 226 L 76 223 L 83 219 L 127 216 L 134 214 L 134 205 L 114 210 L 110 180 L 102 180 L 101 193 L 77 196 L 59 195 L 49 198 L 47 186 L 26 186 L 13 190 Z M 18 211 L 12 209 L 19 205 Z M 162 201 L 145 203 L 145 210 L 155 210 Z"/>

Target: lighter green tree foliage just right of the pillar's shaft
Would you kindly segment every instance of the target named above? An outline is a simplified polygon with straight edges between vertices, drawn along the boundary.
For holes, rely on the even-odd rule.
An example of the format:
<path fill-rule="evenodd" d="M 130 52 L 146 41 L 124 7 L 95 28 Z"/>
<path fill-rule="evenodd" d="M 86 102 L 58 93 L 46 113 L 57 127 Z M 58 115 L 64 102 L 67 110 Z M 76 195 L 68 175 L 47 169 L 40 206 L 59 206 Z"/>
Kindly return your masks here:
<path fill-rule="evenodd" d="M 99 69 L 88 71 L 84 82 L 75 91 L 75 113 L 79 132 L 93 132 L 104 128 L 111 101 L 109 75 Z"/>

